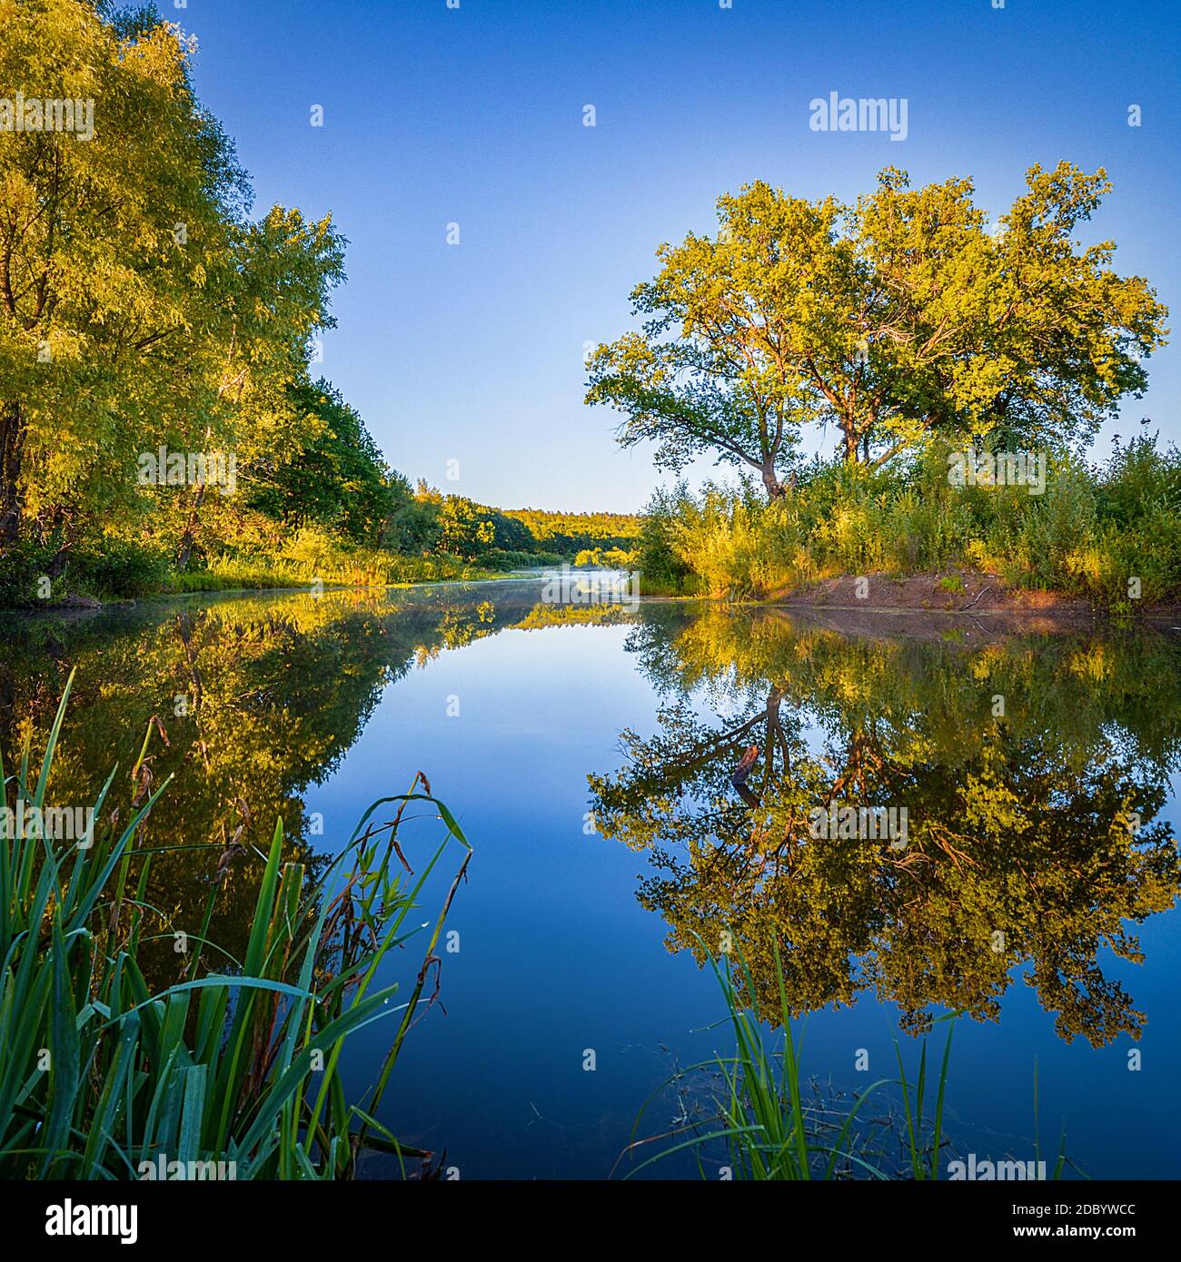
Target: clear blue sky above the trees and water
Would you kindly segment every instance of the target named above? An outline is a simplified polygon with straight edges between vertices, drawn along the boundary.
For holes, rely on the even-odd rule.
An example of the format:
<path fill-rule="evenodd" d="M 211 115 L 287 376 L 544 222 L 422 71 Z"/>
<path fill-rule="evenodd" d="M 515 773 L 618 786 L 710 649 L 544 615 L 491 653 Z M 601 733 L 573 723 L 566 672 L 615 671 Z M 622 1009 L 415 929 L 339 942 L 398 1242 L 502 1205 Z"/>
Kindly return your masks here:
<path fill-rule="evenodd" d="M 351 242 L 325 375 L 397 468 L 483 502 L 644 502 L 650 453 L 584 406 L 584 343 L 628 327 L 659 242 L 755 178 L 853 199 L 893 164 L 970 175 L 1000 213 L 1034 162 L 1106 167 L 1090 239 L 1119 244 L 1181 336 L 1176 0 L 158 3 L 198 38 L 255 211 L 331 211 Z M 907 139 L 811 131 L 830 91 L 906 97 Z M 1181 351 L 1148 367 L 1096 453 L 1143 415 L 1181 439 Z"/>

